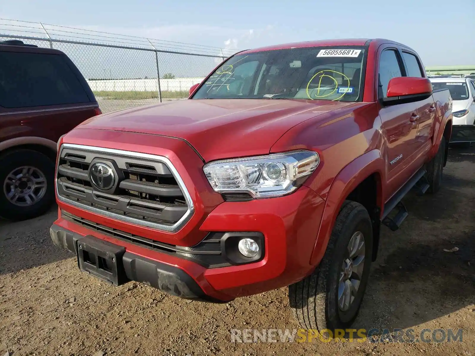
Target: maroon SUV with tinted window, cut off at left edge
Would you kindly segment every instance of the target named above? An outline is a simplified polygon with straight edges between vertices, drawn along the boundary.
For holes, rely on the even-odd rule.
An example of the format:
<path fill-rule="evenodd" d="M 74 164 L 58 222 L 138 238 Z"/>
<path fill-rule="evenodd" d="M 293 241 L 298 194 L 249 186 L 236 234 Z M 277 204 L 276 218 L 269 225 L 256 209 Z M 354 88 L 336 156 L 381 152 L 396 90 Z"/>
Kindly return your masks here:
<path fill-rule="evenodd" d="M 24 220 L 54 202 L 57 141 L 101 113 L 61 51 L 0 42 L 0 216 Z"/>

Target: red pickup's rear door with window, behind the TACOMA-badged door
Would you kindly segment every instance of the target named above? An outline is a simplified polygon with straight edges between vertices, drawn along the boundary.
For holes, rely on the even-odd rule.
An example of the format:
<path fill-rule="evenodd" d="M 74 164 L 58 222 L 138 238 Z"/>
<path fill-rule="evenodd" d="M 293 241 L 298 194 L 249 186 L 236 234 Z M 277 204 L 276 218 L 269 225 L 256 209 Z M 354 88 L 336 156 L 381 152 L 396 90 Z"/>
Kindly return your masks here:
<path fill-rule="evenodd" d="M 406 75 L 412 77 L 425 77 L 423 67 L 418 56 L 407 49 L 403 49 L 402 59 L 406 68 Z M 417 134 L 414 144 L 415 150 L 429 149 L 432 145 L 433 125 L 436 117 L 436 103 L 432 95 L 425 100 L 414 103 L 417 105 Z"/>

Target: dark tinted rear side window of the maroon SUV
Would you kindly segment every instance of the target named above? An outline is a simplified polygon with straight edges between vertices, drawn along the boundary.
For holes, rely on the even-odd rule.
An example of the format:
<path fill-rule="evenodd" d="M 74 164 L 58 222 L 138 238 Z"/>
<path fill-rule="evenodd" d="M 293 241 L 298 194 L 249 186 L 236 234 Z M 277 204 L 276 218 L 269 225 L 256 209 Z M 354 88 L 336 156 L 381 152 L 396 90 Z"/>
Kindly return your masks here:
<path fill-rule="evenodd" d="M 0 106 L 23 108 L 90 101 L 64 56 L 0 52 L 0 63 Z"/>

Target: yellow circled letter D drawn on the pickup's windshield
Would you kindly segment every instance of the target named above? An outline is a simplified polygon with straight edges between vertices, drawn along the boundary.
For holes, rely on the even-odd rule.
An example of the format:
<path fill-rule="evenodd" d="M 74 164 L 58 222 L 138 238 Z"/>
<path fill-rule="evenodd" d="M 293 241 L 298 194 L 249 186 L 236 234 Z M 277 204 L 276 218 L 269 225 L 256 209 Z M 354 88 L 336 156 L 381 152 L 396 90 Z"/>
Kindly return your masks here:
<path fill-rule="evenodd" d="M 342 84 L 347 84 L 347 85 L 339 87 L 338 81 L 334 78 L 335 74 L 339 77 L 340 76 L 342 77 L 342 81 L 343 81 Z M 333 84 L 331 84 L 332 81 L 333 81 Z M 322 82 L 325 82 L 325 83 L 322 83 Z M 316 86 L 316 88 L 312 90 L 312 93 L 310 93 L 310 90 L 311 90 L 309 88 L 310 85 Z M 350 88 L 351 88 L 351 91 L 349 91 Z M 331 90 L 331 92 L 327 93 L 329 90 Z M 315 75 L 310 79 L 310 81 L 307 83 L 306 93 L 309 99 L 318 100 L 318 99 L 322 99 L 326 96 L 330 96 L 334 94 L 337 90 L 338 90 L 338 94 L 342 94 L 342 95 L 340 95 L 339 97 L 335 99 L 332 99 L 332 101 L 340 100 L 346 93 L 352 93 L 353 88 L 350 86 L 350 78 L 348 78 L 346 75 L 344 75 L 341 72 L 337 72 L 336 70 L 324 69 L 318 73 L 315 73 Z"/>

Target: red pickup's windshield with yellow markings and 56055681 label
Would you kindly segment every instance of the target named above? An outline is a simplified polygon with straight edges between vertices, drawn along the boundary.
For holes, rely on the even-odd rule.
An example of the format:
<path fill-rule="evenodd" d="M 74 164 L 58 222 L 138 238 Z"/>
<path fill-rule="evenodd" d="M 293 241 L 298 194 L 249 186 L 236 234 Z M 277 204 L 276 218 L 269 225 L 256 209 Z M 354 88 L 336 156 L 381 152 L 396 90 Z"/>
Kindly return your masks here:
<path fill-rule="evenodd" d="M 307 47 L 229 58 L 192 99 L 361 101 L 365 47 Z"/>

